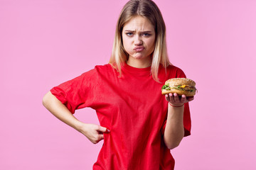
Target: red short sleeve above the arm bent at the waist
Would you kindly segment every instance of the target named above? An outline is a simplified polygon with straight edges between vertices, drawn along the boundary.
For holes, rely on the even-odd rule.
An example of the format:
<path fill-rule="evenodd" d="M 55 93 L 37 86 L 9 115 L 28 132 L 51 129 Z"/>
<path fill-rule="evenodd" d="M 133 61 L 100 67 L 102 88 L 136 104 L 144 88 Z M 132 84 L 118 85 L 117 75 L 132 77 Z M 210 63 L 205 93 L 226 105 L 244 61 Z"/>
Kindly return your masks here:
<path fill-rule="evenodd" d="M 75 113 L 78 108 L 90 106 L 93 99 L 93 87 L 97 82 L 97 72 L 95 69 L 65 81 L 63 84 L 50 89 L 51 94 L 58 98 L 71 113 Z"/>

